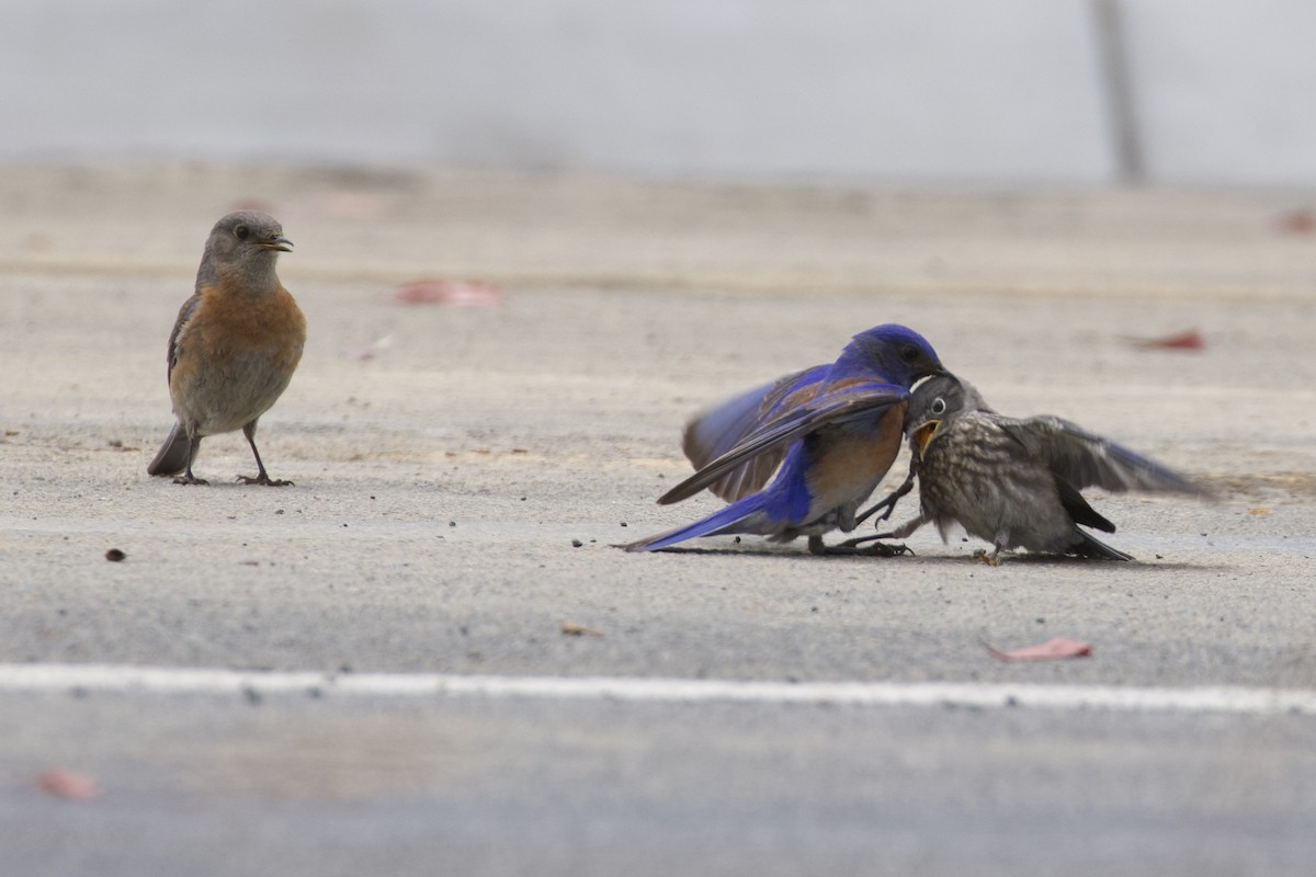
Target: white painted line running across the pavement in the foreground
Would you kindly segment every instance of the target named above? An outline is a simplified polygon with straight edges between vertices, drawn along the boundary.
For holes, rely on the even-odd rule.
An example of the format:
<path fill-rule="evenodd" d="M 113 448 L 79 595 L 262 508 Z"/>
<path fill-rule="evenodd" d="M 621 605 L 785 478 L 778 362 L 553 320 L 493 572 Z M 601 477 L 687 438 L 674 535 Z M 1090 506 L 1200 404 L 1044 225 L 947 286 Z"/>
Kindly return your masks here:
<path fill-rule="evenodd" d="M 1136 688 L 967 682 L 757 682 L 642 677 L 458 676 L 443 673 L 243 672 L 117 664 L 0 664 L 0 694 L 309 694 L 505 697 L 663 703 L 834 703 L 854 706 L 1026 706 L 1134 713 L 1316 715 L 1316 690 L 1238 686 Z"/>

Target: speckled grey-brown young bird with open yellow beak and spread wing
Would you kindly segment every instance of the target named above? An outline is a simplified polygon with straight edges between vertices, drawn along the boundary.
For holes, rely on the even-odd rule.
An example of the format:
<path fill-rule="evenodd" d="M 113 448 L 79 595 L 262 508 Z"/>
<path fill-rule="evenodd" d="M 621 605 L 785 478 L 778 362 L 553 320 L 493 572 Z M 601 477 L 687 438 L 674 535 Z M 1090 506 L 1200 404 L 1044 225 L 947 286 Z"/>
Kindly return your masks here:
<path fill-rule="evenodd" d="M 933 522 L 945 540 L 958 522 L 992 544 L 990 555 L 978 556 L 994 567 L 1008 548 L 1130 560 L 1079 529 L 1115 533 L 1080 489 L 1205 496 L 1183 476 L 1058 417 L 1003 417 L 950 373 L 913 392 L 907 422 L 913 459 L 909 480 L 894 496 L 907 493 L 917 473 L 921 510 L 879 539 L 904 539 Z M 894 508 L 895 500 L 883 505 Z"/>

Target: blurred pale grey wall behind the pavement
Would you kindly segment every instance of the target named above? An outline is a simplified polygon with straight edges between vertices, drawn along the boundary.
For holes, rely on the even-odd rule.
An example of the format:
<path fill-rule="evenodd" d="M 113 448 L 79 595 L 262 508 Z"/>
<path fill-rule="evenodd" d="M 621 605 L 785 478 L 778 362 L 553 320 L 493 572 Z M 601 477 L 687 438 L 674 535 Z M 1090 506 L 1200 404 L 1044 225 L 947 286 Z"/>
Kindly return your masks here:
<path fill-rule="evenodd" d="M 1117 8 L 1123 103 L 1096 0 L 5 0 L 0 160 L 1316 184 L 1316 3 Z"/>

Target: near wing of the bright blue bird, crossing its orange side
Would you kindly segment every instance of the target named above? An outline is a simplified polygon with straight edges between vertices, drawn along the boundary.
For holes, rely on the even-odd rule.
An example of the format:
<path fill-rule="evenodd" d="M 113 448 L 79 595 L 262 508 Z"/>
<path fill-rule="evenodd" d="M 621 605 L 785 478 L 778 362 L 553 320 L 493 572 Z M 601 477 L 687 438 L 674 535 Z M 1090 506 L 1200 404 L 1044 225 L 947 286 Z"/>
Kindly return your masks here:
<path fill-rule="evenodd" d="M 770 455 L 774 468 L 795 439 L 829 426 L 858 421 L 875 421 L 888 408 L 909 398 L 909 391 L 895 384 L 855 380 L 833 384 L 815 392 L 804 401 L 780 405 L 775 417 L 766 419 L 734 447 L 717 456 L 692 476 L 658 498 L 661 505 L 687 500 L 729 473 L 740 473 L 754 460 Z M 771 472 L 769 472 L 771 473 Z M 765 476 L 766 480 L 766 476 Z"/>

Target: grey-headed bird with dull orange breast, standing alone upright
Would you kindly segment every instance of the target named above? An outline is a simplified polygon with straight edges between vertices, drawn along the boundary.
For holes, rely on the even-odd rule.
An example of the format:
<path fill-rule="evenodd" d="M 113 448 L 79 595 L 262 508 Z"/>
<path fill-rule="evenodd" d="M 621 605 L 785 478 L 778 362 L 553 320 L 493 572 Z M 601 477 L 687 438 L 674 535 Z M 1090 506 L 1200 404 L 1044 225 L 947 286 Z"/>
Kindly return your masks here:
<path fill-rule="evenodd" d="M 149 475 L 205 484 L 192 475 L 201 438 L 241 429 L 257 475 L 238 480 L 292 484 L 270 479 L 255 450 L 257 421 L 288 387 L 307 342 L 307 320 L 274 272 L 275 259 L 291 247 L 267 213 L 240 210 L 215 224 L 196 292 L 168 337 L 168 393 L 178 422 L 146 467 Z"/>

